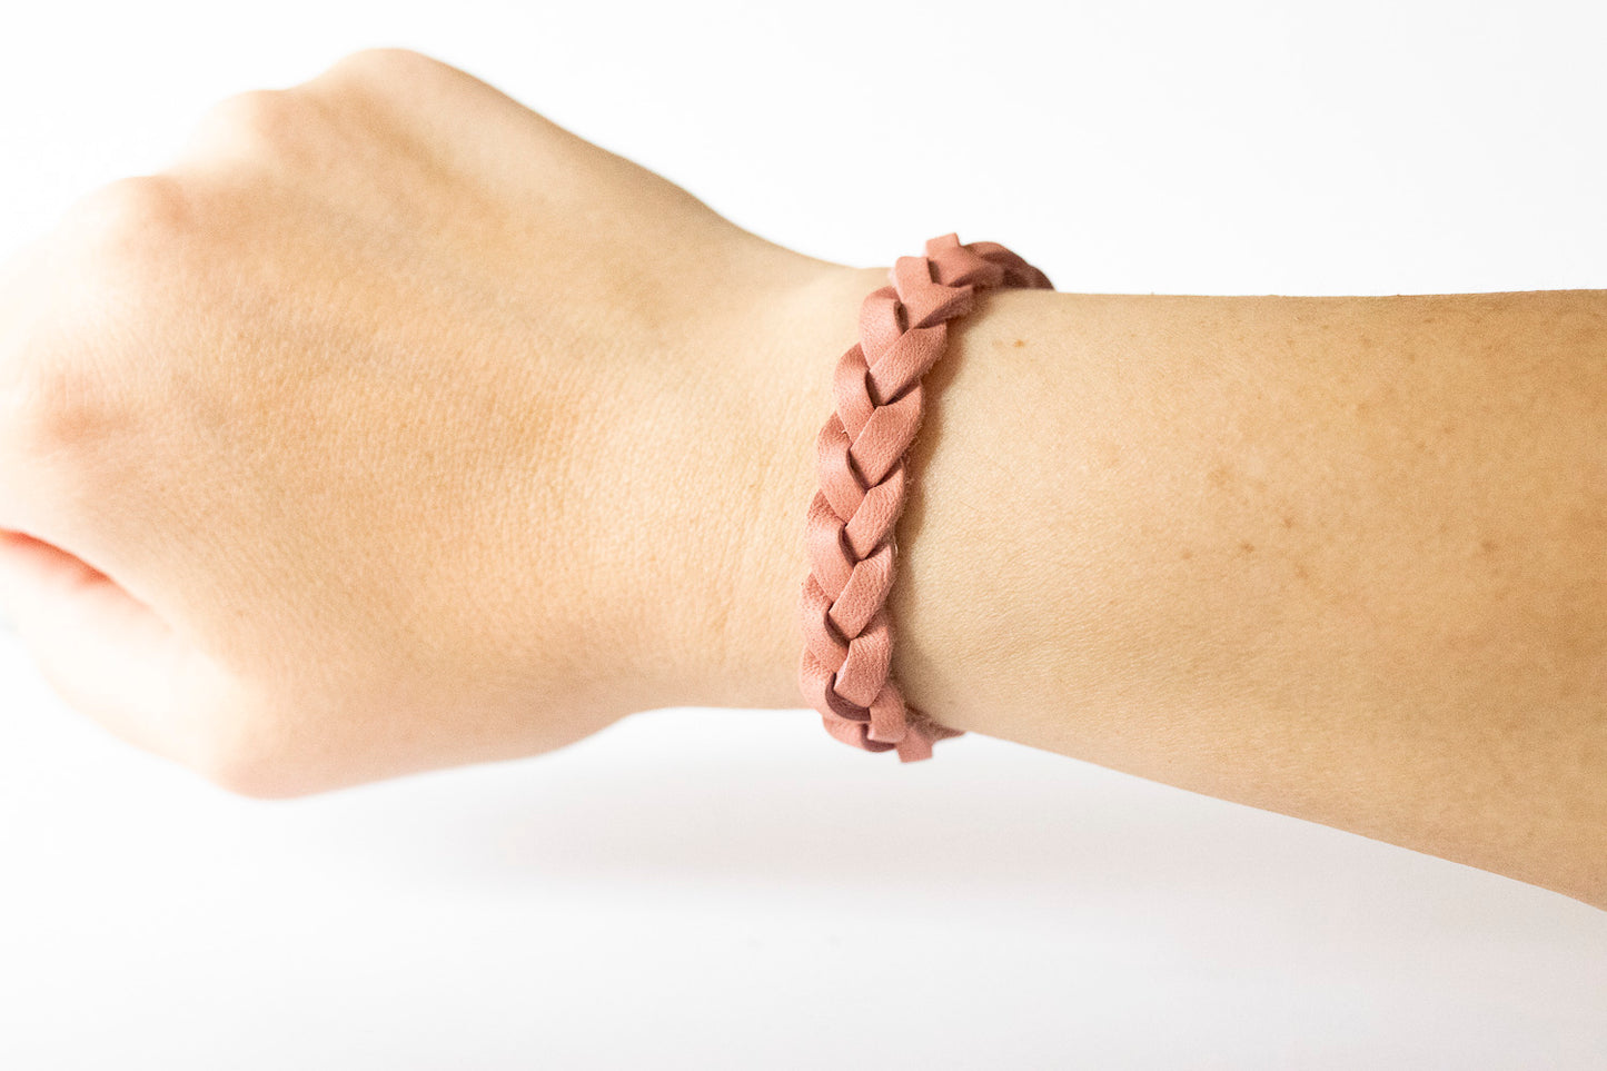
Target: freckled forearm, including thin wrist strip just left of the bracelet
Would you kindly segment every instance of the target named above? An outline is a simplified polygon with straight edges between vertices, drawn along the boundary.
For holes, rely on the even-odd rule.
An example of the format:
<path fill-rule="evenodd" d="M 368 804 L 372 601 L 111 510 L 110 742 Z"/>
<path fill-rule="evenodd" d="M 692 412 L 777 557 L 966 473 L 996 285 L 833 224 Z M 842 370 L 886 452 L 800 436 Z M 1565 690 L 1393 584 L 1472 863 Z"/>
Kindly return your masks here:
<path fill-rule="evenodd" d="M 754 706 L 802 703 L 813 441 L 877 277 L 783 376 Z M 1607 291 L 992 293 L 926 384 L 913 706 L 1607 907 Z"/>

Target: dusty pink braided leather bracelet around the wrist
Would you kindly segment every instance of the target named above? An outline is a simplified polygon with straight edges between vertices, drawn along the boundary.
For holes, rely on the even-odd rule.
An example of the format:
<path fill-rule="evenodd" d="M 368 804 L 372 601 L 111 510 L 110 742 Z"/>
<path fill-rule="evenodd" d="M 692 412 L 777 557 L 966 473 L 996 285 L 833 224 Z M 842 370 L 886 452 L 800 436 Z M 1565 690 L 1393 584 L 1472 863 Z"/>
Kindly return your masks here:
<path fill-rule="evenodd" d="M 860 306 L 860 341 L 837 362 L 837 408 L 815 441 L 820 490 L 805 524 L 810 576 L 799 619 L 799 687 L 826 732 L 865 751 L 898 749 L 900 762 L 932 757 L 963 735 L 905 704 L 892 679 L 893 527 L 905 505 L 905 452 L 924 415 L 921 380 L 943 355 L 948 320 L 971 312 L 988 286 L 1054 289 L 1049 277 L 996 241 L 926 243 L 898 257 L 890 286 Z"/>

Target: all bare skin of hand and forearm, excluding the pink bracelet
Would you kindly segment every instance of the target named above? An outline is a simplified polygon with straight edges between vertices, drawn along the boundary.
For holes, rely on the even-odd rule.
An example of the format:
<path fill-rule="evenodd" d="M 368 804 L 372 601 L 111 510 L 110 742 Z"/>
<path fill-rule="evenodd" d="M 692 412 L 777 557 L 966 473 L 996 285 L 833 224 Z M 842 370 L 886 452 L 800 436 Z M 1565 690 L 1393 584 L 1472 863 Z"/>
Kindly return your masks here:
<path fill-rule="evenodd" d="M 805 706 L 885 281 L 415 53 L 231 98 L 0 280 L 0 600 L 257 798 Z M 950 339 L 913 706 L 1607 907 L 1607 291 L 1000 291 Z"/>

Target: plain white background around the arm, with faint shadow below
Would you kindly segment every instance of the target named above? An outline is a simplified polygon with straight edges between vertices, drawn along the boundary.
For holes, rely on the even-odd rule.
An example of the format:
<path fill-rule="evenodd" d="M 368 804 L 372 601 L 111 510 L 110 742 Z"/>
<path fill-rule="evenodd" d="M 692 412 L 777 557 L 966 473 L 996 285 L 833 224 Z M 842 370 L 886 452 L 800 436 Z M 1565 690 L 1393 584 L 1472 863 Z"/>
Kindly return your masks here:
<path fill-rule="evenodd" d="M 1607 288 L 1596 10 L 5 0 L 0 252 L 405 45 L 844 264 Z M 1601 1069 L 1607 912 L 1001 741 L 900 767 L 802 700 L 247 801 L 0 632 L 0 1068 Z"/>

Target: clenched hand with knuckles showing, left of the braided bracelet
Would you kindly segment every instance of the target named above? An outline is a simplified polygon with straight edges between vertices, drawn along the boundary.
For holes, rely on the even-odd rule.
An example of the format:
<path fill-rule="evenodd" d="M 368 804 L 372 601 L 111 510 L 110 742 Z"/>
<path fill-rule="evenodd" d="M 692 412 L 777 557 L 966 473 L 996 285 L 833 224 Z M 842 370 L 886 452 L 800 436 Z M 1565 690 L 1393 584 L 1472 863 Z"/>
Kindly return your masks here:
<path fill-rule="evenodd" d="M 0 600 L 69 703 L 249 796 L 718 703 L 765 383 L 824 381 L 881 278 L 416 53 L 231 98 L 8 265 Z"/>

